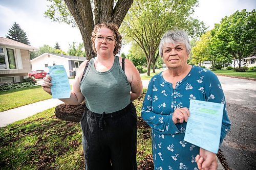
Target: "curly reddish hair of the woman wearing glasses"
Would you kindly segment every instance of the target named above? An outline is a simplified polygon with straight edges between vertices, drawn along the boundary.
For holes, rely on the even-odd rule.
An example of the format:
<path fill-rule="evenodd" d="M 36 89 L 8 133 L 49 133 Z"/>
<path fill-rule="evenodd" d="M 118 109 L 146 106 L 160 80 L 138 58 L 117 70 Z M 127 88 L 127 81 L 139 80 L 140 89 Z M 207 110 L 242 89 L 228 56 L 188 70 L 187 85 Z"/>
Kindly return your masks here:
<path fill-rule="evenodd" d="M 122 36 L 118 32 L 118 26 L 115 23 L 106 23 L 106 22 L 98 23 L 93 29 L 91 41 L 92 41 L 92 47 L 93 47 L 94 53 L 97 54 L 97 51 L 95 48 L 95 35 L 101 28 L 108 28 L 113 32 L 113 36 L 115 37 L 114 55 L 118 54 L 122 46 Z"/>

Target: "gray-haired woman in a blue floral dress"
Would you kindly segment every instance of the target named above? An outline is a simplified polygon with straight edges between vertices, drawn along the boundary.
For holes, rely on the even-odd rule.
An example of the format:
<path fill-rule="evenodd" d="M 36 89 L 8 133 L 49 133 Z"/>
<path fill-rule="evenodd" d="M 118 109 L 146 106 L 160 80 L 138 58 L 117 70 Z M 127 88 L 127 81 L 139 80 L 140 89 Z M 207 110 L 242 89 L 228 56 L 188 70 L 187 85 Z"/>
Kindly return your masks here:
<path fill-rule="evenodd" d="M 152 128 L 152 154 L 157 170 L 218 166 L 215 153 L 184 141 L 190 99 L 225 104 L 217 76 L 187 64 L 190 50 L 185 31 L 168 31 L 163 35 L 159 54 L 167 69 L 151 79 L 143 102 L 141 116 Z M 230 125 L 224 105 L 220 143 Z"/>

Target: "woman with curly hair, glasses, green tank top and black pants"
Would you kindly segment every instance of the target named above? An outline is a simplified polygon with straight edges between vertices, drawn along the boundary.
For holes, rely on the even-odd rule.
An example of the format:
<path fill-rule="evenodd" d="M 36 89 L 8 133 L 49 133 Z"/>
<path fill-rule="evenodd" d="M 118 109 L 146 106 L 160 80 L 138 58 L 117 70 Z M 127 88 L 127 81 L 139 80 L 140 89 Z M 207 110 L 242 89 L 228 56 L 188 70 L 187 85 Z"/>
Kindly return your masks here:
<path fill-rule="evenodd" d="M 71 96 L 61 101 L 78 105 L 86 169 L 136 169 L 137 115 L 132 103 L 142 92 L 139 72 L 128 59 L 115 56 L 122 37 L 114 23 L 100 23 L 91 36 L 97 54 L 78 68 Z M 42 88 L 51 93 L 51 77 Z"/>

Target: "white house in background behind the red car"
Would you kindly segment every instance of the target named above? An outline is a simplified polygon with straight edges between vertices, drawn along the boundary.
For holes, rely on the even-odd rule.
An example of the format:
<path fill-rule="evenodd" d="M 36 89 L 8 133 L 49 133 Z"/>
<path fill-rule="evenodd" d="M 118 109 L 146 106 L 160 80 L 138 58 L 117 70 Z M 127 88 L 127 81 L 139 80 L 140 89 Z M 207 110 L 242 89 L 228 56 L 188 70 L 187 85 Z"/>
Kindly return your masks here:
<path fill-rule="evenodd" d="M 48 66 L 63 65 L 69 78 L 76 76 L 79 65 L 86 57 L 67 56 L 62 54 L 44 53 L 31 60 L 32 70 L 45 70 L 49 72 Z"/>

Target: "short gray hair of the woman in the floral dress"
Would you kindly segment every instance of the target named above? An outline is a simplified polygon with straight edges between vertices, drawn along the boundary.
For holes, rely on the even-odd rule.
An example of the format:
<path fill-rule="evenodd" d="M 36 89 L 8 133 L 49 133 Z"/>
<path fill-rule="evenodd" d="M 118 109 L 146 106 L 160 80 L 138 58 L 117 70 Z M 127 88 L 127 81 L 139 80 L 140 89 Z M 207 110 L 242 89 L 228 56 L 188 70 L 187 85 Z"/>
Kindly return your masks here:
<path fill-rule="evenodd" d="M 191 46 L 189 43 L 187 33 L 183 30 L 169 30 L 166 33 L 164 33 L 159 43 L 159 55 L 161 57 L 163 57 L 163 46 L 166 43 L 182 43 L 186 48 L 187 54 L 189 54 L 191 51 Z"/>

